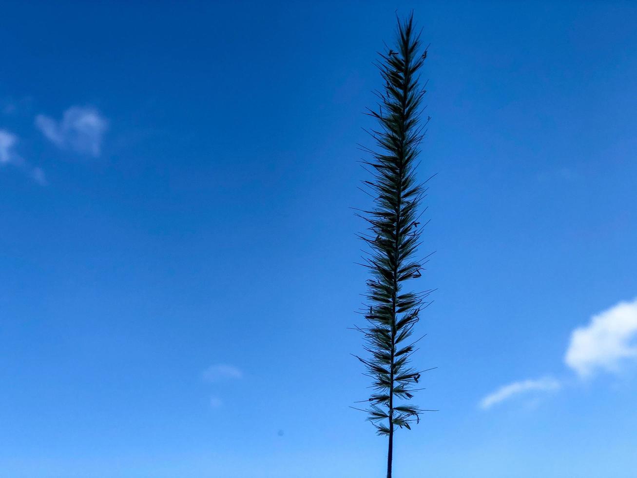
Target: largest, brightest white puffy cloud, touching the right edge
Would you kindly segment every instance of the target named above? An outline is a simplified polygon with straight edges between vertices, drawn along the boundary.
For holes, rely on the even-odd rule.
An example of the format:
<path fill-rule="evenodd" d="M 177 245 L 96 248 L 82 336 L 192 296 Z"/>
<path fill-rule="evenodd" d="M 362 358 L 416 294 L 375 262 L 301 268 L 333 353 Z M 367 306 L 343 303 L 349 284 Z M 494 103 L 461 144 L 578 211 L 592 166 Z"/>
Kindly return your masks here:
<path fill-rule="evenodd" d="M 599 371 L 617 373 L 631 359 L 637 360 L 637 299 L 622 301 L 576 328 L 564 356 L 580 377 Z"/>

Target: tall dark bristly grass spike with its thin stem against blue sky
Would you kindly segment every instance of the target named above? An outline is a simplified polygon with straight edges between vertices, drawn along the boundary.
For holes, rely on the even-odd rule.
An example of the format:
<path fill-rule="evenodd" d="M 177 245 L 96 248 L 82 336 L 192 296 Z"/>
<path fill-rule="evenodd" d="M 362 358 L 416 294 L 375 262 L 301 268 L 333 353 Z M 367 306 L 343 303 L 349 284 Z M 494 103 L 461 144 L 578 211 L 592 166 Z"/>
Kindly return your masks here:
<path fill-rule="evenodd" d="M 368 420 L 379 435 L 389 436 L 388 476 L 394 429 L 411 429 L 424 411 L 397 403 L 410 400 L 420 380 L 421 372 L 410 366 L 418 342 L 412 340 L 412 332 L 429 293 L 403 291 L 404 282 L 420 277 L 423 270 L 423 262 L 415 253 L 422 231 L 419 205 L 426 190 L 417 182 L 415 168 L 424 137 L 420 102 L 425 94 L 417 73 L 427 53 L 419 48 L 413 18 L 399 21 L 396 50 L 380 54 L 378 67 L 385 88 L 378 92 L 378 111 L 369 112 L 380 124 L 378 130 L 371 131 L 378 150 L 368 150 L 373 159 L 364 162 L 373 175 L 364 184 L 375 203 L 371 211 L 361 215 L 369 223 L 368 233 L 361 238 L 369 245 L 364 265 L 371 278 L 364 309 L 368 326 L 358 330 L 364 334 L 369 357 L 357 358 L 373 380 L 373 393 L 365 410 Z"/>

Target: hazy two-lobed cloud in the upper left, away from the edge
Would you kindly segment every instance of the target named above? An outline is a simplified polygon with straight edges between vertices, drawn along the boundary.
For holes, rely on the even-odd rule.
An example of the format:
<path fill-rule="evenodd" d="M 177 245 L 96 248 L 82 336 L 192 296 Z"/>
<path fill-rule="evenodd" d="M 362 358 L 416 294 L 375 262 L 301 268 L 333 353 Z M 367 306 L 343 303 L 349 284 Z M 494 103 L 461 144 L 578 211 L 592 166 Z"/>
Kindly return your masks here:
<path fill-rule="evenodd" d="M 36 116 L 36 126 L 57 147 L 97 157 L 108 121 L 95 108 L 71 106 L 61 121 L 45 115 Z"/>

